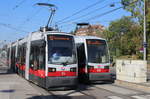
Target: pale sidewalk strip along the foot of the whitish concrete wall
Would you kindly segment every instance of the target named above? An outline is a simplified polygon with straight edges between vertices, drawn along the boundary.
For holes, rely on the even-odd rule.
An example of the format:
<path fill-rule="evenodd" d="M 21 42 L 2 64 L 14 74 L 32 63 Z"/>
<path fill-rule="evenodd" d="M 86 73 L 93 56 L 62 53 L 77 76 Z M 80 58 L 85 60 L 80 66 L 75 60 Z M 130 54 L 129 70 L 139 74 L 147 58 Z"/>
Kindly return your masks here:
<path fill-rule="evenodd" d="M 150 93 L 150 83 L 148 83 L 149 85 L 144 85 L 144 83 L 131 83 L 121 80 L 115 80 L 115 84 L 118 86 L 126 86 L 132 89 L 137 89 Z"/>

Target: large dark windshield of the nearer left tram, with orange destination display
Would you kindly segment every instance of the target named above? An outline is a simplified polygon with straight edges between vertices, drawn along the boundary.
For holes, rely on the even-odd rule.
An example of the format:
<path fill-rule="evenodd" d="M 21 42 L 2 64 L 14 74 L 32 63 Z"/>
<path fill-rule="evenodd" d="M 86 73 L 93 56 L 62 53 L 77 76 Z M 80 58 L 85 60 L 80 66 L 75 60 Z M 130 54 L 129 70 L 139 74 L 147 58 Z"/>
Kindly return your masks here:
<path fill-rule="evenodd" d="M 48 36 L 48 63 L 74 64 L 76 62 L 74 40 L 67 35 Z"/>

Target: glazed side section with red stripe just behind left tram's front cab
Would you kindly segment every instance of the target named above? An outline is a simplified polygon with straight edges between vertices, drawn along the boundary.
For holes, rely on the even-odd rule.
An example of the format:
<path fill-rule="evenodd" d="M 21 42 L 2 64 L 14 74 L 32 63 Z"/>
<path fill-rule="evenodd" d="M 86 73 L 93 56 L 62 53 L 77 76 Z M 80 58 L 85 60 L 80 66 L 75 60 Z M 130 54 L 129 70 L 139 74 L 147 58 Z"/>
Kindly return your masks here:
<path fill-rule="evenodd" d="M 45 47 L 41 41 L 31 42 L 29 79 L 38 85 L 45 84 Z"/>

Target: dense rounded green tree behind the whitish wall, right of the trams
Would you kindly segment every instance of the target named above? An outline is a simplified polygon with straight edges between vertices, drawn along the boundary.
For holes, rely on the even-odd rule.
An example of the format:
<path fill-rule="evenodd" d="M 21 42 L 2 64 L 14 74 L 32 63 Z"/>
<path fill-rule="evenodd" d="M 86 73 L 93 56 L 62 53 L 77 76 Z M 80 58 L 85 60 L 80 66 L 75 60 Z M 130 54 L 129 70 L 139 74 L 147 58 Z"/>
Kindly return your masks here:
<path fill-rule="evenodd" d="M 140 57 L 142 27 L 131 17 L 123 17 L 111 22 L 104 34 L 109 42 L 112 56 L 134 55 Z"/>

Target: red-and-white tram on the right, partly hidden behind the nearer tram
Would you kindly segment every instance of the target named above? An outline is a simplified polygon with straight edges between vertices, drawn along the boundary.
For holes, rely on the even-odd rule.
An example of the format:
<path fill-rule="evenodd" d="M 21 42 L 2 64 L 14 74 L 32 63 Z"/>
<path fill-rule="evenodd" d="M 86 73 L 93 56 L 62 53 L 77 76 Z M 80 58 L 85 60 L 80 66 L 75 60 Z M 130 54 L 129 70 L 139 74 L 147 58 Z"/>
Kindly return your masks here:
<path fill-rule="evenodd" d="M 76 36 L 79 81 L 111 80 L 109 50 L 103 38 Z"/>

